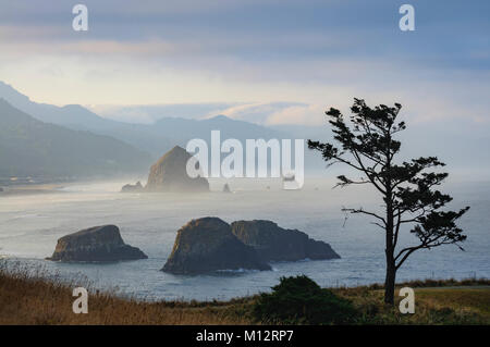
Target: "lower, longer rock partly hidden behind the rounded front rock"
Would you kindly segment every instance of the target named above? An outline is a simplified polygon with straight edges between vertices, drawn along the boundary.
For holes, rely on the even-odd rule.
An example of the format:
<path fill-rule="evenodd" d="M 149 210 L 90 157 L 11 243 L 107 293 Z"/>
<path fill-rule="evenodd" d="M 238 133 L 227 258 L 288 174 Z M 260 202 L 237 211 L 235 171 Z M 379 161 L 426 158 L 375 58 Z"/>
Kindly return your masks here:
<path fill-rule="evenodd" d="M 231 227 L 241 241 L 254 247 L 266 261 L 340 258 L 329 244 L 314 240 L 296 230 L 282 228 L 271 221 L 237 221 Z"/>

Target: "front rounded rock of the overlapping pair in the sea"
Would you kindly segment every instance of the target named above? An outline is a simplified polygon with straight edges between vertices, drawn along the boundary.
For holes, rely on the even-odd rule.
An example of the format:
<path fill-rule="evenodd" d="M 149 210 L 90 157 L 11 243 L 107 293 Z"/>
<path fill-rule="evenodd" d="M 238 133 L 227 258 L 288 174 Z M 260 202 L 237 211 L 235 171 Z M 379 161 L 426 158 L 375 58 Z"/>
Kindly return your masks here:
<path fill-rule="evenodd" d="M 218 218 L 192 220 L 177 231 L 162 271 L 198 274 L 218 270 L 270 270 L 253 247 L 244 245 Z"/>

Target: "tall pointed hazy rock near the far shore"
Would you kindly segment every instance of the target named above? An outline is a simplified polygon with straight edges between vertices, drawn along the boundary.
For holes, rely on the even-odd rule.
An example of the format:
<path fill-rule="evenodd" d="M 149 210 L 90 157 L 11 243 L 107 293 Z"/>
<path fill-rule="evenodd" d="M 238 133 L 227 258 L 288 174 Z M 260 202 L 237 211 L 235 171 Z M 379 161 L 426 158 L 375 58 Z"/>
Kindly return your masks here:
<path fill-rule="evenodd" d="M 148 191 L 209 191 L 209 183 L 205 177 L 192 178 L 187 175 L 186 165 L 189 153 L 175 146 L 150 168 L 146 190 Z"/>

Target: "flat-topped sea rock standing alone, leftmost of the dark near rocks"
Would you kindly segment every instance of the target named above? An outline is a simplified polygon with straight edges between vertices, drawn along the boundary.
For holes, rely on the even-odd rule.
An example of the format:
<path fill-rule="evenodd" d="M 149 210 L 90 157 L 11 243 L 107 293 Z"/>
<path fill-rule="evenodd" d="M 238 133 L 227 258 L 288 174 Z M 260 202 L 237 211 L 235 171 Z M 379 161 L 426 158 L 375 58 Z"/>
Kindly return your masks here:
<path fill-rule="evenodd" d="M 58 239 L 48 260 L 54 261 L 118 261 L 148 258 L 136 247 L 124 244 L 115 225 L 94 226 Z"/>

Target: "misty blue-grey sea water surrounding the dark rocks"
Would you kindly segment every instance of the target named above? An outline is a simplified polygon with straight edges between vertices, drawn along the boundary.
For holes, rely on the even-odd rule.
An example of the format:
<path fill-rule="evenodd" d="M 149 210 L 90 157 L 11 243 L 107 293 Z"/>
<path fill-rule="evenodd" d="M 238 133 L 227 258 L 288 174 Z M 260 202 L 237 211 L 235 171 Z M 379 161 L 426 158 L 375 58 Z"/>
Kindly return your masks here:
<path fill-rule="evenodd" d="M 134 179 L 134 182 L 136 178 Z M 302 190 L 282 190 L 279 181 L 230 181 L 233 194 L 211 181 L 209 194 L 121 194 L 127 182 L 69 184 L 56 193 L 0 197 L 0 255 L 8 261 L 44 267 L 65 278 L 86 276 L 96 287 L 148 299 L 226 299 L 269 290 L 281 276 L 306 274 L 322 286 L 379 283 L 384 275 L 383 234 L 371 220 L 346 215 L 342 207 L 379 209 L 367 187 L 335 188 L 333 181 L 309 178 Z M 270 186 L 270 189 L 267 189 Z M 450 208 L 470 206 L 461 226 L 466 251 L 442 246 L 414 253 L 399 281 L 426 277 L 490 277 L 490 183 L 449 183 Z M 273 271 L 222 272 L 183 276 L 159 271 L 176 231 L 191 219 L 265 219 L 329 243 L 342 259 L 273 263 Z M 115 224 L 123 239 L 149 259 L 108 264 L 44 260 L 59 237 L 94 225 Z M 416 243 L 405 232 L 401 246 Z"/>

